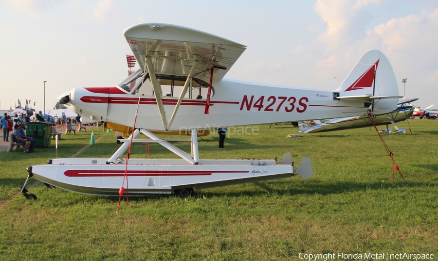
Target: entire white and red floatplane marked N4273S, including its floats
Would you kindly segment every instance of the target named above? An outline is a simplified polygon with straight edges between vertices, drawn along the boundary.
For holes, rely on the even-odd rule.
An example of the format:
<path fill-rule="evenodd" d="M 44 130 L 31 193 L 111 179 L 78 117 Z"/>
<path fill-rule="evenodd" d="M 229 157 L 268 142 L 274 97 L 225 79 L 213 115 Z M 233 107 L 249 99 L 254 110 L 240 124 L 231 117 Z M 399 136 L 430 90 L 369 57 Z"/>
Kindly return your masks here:
<path fill-rule="evenodd" d="M 209 33 L 139 24 L 124 36 L 140 69 L 114 87 L 75 88 L 60 102 L 93 120 L 133 127 L 131 136 L 110 158 L 53 159 L 28 167 L 29 177 L 74 192 L 114 196 L 123 191 L 125 178 L 131 195 L 187 195 L 193 188 L 285 178 L 294 172 L 309 178 L 310 158 L 294 168 L 290 153 L 279 163 L 200 159 L 196 130 L 356 116 L 370 106 L 372 113 L 384 114 L 401 98 L 393 69 L 378 50 L 365 53 L 341 86 L 328 91 L 222 79 L 246 47 Z M 152 131 L 190 132 L 191 154 Z M 148 138 L 137 138 L 139 133 Z M 182 159 L 121 159 L 131 142 L 156 142 Z"/>

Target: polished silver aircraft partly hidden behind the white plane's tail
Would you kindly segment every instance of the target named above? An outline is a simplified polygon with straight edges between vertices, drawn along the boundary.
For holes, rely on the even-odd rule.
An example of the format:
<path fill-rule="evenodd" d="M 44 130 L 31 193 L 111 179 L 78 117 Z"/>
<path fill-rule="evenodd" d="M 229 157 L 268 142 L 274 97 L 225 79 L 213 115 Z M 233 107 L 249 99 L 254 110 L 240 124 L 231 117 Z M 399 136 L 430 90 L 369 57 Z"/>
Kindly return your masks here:
<path fill-rule="evenodd" d="M 373 115 L 373 121 L 370 121 L 368 115 L 360 115 L 360 116 L 352 116 L 352 117 L 343 117 L 330 119 L 327 121 L 300 121 L 298 122 L 298 127 L 300 129 L 299 132 L 306 133 L 316 133 L 316 132 L 326 132 L 326 131 L 335 131 L 335 130 L 349 130 L 363 127 L 372 127 L 374 125 L 386 125 L 386 128 L 380 130 L 380 132 L 391 134 L 391 133 L 405 133 L 405 129 L 399 129 L 396 122 L 403 121 L 408 119 L 414 113 L 414 106 L 406 106 L 405 103 L 412 102 L 418 100 L 418 98 L 413 99 L 400 99 L 399 105 L 394 111 L 387 114 L 378 114 Z M 392 124 L 395 128 L 395 131 L 392 131 L 391 128 L 388 127 L 389 124 Z"/>

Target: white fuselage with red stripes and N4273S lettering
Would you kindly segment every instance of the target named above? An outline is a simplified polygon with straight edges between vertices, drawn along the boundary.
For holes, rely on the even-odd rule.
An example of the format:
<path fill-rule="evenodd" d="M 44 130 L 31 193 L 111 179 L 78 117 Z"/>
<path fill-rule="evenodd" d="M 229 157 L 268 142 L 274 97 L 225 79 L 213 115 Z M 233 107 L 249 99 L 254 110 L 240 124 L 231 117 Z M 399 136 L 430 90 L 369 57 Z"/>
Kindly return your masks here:
<path fill-rule="evenodd" d="M 365 114 L 369 103 L 336 100 L 334 92 L 280 86 L 255 85 L 222 80 L 214 85 L 210 113 L 205 114 L 205 99 L 184 98 L 177 117 L 168 130 L 215 128 L 308 119 L 325 119 Z M 163 96 L 167 119 L 178 97 Z M 129 94 L 120 87 L 75 88 L 70 104 L 78 114 L 94 120 L 133 126 L 139 94 Z M 378 107 L 376 106 L 376 109 Z M 390 107 L 382 108 L 391 110 Z M 154 96 L 142 95 L 136 127 L 165 130 Z"/>

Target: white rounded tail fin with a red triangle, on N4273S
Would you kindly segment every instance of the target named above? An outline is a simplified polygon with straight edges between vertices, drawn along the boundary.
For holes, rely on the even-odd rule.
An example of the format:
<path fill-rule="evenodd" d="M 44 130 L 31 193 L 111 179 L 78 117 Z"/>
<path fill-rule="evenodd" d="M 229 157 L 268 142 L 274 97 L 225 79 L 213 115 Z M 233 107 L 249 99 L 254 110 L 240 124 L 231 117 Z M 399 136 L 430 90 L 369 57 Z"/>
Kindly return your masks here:
<path fill-rule="evenodd" d="M 336 92 L 339 92 L 339 98 L 370 96 L 365 100 L 374 114 L 391 112 L 400 98 L 392 66 L 379 50 L 366 52 Z"/>

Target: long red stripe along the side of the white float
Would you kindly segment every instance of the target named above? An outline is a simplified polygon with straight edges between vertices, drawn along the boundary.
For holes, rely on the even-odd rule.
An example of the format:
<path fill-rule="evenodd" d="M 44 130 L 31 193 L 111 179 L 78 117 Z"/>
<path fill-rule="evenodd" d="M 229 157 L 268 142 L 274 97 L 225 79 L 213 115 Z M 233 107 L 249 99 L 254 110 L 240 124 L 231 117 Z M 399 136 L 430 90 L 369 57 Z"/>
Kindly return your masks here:
<path fill-rule="evenodd" d="M 213 173 L 249 173 L 249 171 L 128 170 L 129 177 L 209 176 Z M 64 175 L 67 177 L 123 177 L 125 170 L 67 170 Z"/>

